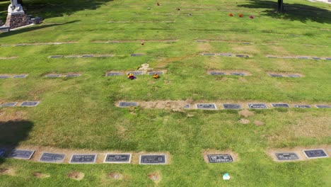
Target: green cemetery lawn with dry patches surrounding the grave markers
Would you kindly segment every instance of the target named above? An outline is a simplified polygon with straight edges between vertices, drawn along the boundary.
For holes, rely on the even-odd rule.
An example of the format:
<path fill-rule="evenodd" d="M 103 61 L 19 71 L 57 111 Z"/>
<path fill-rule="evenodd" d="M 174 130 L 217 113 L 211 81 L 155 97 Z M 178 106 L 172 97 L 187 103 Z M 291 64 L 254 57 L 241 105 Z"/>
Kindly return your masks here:
<path fill-rule="evenodd" d="M 277 148 L 330 147 L 330 108 L 269 108 L 252 110 L 254 115 L 243 117 L 231 110 L 115 106 L 119 101 L 189 100 L 331 106 L 330 60 L 265 57 L 331 57 L 330 4 L 286 0 L 288 13 L 281 16 L 273 12 L 276 0 L 160 3 L 24 1 L 26 13 L 45 21 L 0 33 L 0 45 L 10 45 L 0 47 L 0 74 L 28 74 L 25 79 L 0 79 L 0 103 L 40 104 L 0 108 L 0 147 L 164 152 L 170 154 L 170 164 L 42 164 L 0 158 L 0 186 L 331 186 L 330 158 L 274 162 L 267 154 L 267 150 Z M 2 21 L 8 4 L 0 1 Z M 176 11 L 177 7 L 181 11 Z M 239 18 L 238 13 L 244 17 Z M 122 42 L 106 43 L 108 40 Z M 74 43 L 14 46 L 42 42 Z M 144 56 L 130 57 L 133 53 Z M 114 56 L 49 58 L 52 55 Z M 160 79 L 141 75 L 132 81 L 125 75 L 105 77 L 106 72 L 134 71 L 144 63 L 165 74 Z M 211 76 L 209 70 L 250 75 Z M 271 72 L 302 77 L 269 77 Z M 46 74 L 67 73 L 81 77 L 45 78 Z M 240 123 L 242 119 L 249 120 L 248 124 Z M 255 125 L 255 121 L 265 125 Z M 231 150 L 239 159 L 207 164 L 203 158 L 207 149 Z M 81 181 L 69 179 L 71 171 L 82 172 L 85 177 Z M 40 179 L 35 172 L 50 177 Z M 112 172 L 122 174 L 123 179 L 110 179 Z M 148 178 L 153 172 L 161 175 L 157 184 Z M 223 181 L 226 172 L 233 179 Z"/>

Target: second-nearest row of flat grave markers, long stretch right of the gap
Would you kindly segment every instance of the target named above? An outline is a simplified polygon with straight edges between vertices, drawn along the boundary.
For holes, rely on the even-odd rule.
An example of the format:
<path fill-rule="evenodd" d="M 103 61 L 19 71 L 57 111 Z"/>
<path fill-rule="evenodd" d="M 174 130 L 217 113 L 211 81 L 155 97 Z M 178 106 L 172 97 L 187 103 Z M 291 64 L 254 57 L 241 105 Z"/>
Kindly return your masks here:
<path fill-rule="evenodd" d="M 240 104 L 226 103 L 222 104 L 224 109 L 242 109 Z M 290 108 L 291 106 L 287 103 L 271 103 L 274 108 Z M 130 107 L 130 106 L 139 106 L 137 102 L 126 102 L 122 101 L 119 103 L 120 107 Z M 252 109 L 267 109 L 267 105 L 265 103 L 248 103 L 248 107 Z M 331 108 L 331 106 L 327 105 L 315 105 L 316 108 Z M 183 106 L 183 108 L 191 108 L 190 104 Z M 195 104 L 196 109 L 204 109 L 204 110 L 218 110 L 215 103 L 197 103 Z M 311 108 L 310 105 L 294 105 L 294 108 Z"/>

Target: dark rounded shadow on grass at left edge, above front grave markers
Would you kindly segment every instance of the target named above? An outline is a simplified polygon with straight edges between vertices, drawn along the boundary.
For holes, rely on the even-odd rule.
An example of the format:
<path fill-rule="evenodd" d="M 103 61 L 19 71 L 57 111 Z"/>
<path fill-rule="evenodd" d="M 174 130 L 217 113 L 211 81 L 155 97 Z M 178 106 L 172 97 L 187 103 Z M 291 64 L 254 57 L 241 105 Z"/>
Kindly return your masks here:
<path fill-rule="evenodd" d="M 0 149 L 6 149 L 6 155 L 15 149 L 20 142 L 26 140 L 33 123 L 28 120 L 0 121 Z M 4 159 L 0 157 L 0 164 Z"/>

